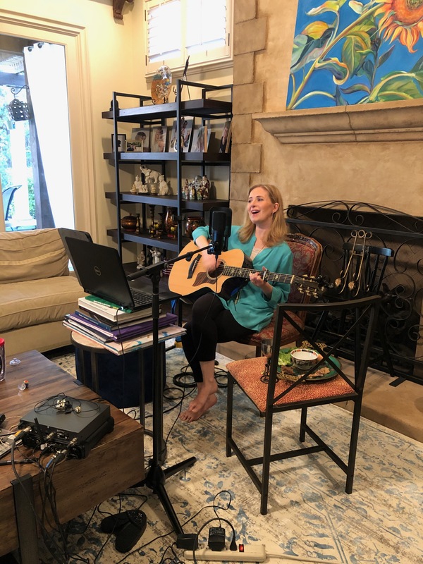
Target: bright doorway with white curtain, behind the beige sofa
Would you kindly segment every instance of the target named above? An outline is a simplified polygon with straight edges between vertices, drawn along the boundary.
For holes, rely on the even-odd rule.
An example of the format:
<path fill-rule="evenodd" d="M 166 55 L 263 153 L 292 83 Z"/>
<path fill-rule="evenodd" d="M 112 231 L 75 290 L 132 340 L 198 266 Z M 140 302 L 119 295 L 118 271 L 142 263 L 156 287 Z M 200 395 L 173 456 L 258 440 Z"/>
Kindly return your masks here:
<path fill-rule="evenodd" d="M 0 35 L 0 144 L 6 231 L 73 228 L 63 46 Z"/>

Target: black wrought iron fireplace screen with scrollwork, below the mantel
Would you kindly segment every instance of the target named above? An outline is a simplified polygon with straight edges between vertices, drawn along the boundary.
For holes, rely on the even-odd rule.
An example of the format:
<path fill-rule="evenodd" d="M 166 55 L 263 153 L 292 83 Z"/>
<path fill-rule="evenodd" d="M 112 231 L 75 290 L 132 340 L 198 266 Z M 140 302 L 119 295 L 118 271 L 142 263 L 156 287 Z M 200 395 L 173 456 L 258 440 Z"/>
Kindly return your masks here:
<path fill-rule="evenodd" d="M 340 200 L 289 206 L 286 215 L 290 231 L 321 243 L 324 251 L 319 274 L 334 286 L 345 269 L 345 244 L 354 243 L 355 233 L 369 234 L 364 238 L 365 245 L 393 251 L 380 284 L 385 298 L 380 331 L 396 376 L 423 384 L 423 218 L 365 202 Z M 388 372 L 377 336 L 374 349 L 374 357 L 379 360 L 372 366 Z"/>

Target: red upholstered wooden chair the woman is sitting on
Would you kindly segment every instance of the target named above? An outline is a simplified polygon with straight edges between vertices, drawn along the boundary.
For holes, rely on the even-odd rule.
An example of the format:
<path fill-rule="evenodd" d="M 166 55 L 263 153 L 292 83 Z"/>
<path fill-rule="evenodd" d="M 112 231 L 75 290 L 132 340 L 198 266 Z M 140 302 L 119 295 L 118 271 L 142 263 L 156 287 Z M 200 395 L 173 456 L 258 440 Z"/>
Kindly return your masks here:
<path fill-rule="evenodd" d="M 286 242 L 293 252 L 293 274 L 295 276 L 307 276 L 312 279 L 317 275 L 320 266 L 322 247 L 319 241 L 302 235 L 302 233 L 288 233 Z M 284 273 L 282 273 L 284 274 Z M 301 286 L 291 286 L 290 294 L 287 302 L 290 304 L 307 304 L 312 297 L 312 293 L 305 290 Z M 290 312 L 290 316 L 295 319 L 301 328 L 305 325 L 305 310 Z M 262 341 L 271 339 L 274 336 L 275 316 L 272 321 L 262 329 L 259 333 L 253 333 L 251 336 L 240 339 L 238 343 L 243 345 L 252 345 L 256 348 L 256 356 L 261 354 Z M 280 346 L 288 345 L 298 341 L 299 333 L 292 324 L 284 323 L 281 333 Z"/>

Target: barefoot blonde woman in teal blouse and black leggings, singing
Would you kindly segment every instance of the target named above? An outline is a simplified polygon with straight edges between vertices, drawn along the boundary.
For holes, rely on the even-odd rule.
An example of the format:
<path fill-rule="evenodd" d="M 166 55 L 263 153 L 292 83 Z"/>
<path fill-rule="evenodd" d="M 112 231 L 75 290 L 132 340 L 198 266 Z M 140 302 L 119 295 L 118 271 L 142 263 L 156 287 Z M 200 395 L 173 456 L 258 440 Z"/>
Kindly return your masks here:
<path fill-rule="evenodd" d="M 197 382 L 197 397 L 180 414 L 183 421 L 199 419 L 216 401 L 214 358 L 217 343 L 227 343 L 261 331 L 269 324 L 276 305 L 286 301 L 290 292 L 287 283 L 269 283 L 259 271 L 271 270 L 290 274 L 293 257 L 285 243 L 286 223 L 281 193 L 273 185 L 255 185 L 248 192 L 243 226 L 232 226 L 228 250 L 240 249 L 251 257 L 257 270 L 250 281 L 225 300 L 215 293 L 198 298 L 192 306 L 192 317 L 185 325 L 183 350 Z M 209 244 L 209 230 L 198 227 L 193 233 L 197 247 Z M 207 271 L 214 271 L 219 258 L 202 251 Z M 217 264 L 216 264 L 217 262 Z"/>

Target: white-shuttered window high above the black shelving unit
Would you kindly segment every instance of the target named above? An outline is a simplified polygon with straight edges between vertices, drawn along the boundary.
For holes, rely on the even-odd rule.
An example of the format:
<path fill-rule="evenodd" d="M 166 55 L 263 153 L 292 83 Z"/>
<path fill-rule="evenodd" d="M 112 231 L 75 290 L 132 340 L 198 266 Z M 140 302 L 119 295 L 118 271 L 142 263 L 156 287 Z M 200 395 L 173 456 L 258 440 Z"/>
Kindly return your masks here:
<path fill-rule="evenodd" d="M 233 0 L 145 0 L 147 75 L 231 63 Z"/>

